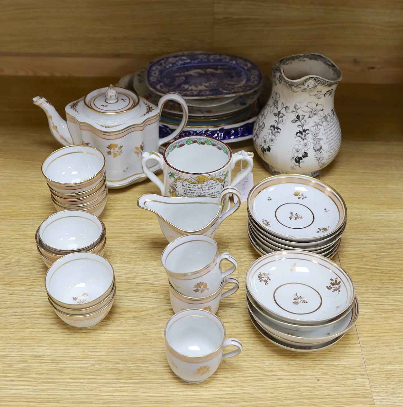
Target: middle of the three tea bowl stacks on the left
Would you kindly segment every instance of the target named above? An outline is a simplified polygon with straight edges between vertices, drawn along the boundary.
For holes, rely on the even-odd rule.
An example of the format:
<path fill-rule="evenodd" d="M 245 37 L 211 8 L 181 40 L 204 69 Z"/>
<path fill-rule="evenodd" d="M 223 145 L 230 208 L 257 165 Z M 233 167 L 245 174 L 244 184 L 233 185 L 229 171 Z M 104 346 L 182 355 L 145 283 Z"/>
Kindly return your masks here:
<path fill-rule="evenodd" d="M 47 217 L 35 233 L 36 247 L 47 267 L 75 252 L 103 256 L 106 227 L 95 215 L 82 210 L 63 210 Z"/>

